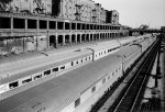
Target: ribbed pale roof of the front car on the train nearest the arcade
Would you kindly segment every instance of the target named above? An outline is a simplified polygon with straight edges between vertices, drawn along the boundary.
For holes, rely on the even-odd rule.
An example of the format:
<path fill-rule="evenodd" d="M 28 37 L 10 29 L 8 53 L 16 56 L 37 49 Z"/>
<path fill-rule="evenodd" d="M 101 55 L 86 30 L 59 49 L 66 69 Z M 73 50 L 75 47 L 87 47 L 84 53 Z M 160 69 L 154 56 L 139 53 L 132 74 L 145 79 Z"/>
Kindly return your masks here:
<path fill-rule="evenodd" d="M 74 58 L 91 54 L 89 49 L 78 49 L 66 53 L 54 54 L 44 58 L 35 60 L 28 60 L 24 63 L 14 63 L 8 66 L 0 66 L 0 83 L 10 82 L 19 78 L 40 72 L 42 69 L 47 69 L 52 65 L 59 65 L 66 60 L 74 60 Z M 21 72 L 21 74 L 20 74 Z"/>

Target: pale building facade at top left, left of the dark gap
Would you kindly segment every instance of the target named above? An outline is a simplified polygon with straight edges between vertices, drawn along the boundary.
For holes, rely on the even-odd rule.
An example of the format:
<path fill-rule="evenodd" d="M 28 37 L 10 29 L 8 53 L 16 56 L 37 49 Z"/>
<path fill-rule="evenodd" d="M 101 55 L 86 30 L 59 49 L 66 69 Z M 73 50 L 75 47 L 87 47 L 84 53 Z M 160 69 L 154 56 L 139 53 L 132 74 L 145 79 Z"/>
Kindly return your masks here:
<path fill-rule="evenodd" d="M 10 12 L 52 13 L 52 0 L 13 0 L 3 5 L 3 10 Z"/>

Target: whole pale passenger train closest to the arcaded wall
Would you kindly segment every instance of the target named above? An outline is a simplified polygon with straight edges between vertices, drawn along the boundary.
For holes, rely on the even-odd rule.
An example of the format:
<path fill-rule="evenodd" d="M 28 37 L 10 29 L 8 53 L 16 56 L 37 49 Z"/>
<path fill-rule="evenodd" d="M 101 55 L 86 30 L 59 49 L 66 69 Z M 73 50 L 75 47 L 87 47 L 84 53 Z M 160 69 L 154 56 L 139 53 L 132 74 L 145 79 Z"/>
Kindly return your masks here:
<path fill-rule="evenodd" d="M 140 46 L 141 52 L 152 44 L 154 36 L 130 36 L 91 43 L 63 52 L 42 52 L 0 60 L 0 100 L 38 86 L 53 78 L 119 52 L 122 47 Z M 140 45 L 144 43 L 146 45 Z"/>

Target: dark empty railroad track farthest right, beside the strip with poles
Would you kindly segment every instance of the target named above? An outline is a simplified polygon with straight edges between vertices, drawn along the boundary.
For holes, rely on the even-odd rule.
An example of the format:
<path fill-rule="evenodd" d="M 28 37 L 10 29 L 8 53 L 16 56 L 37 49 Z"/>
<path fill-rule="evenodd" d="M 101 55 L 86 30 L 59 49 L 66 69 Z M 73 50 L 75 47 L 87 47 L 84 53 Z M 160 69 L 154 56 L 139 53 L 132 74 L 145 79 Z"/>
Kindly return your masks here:
<path fill-rule="evenodd" d="M 150 52 L 148 56 L 142 63 L 139 71 L 135 77 L 132 79 L 132 82 L 123 90 L 123 96 L 120 96 L 118 100 L 119 103 L 116 103 L 116 107 L 108 109 L 108 112 L 136 112 L 140 105 L 140 99 L 144 92 L 146 86 L 148 74 L 152 70 L 156 54 L 157 54 L 157 44 L 154 45 L 154 48 Z"/>

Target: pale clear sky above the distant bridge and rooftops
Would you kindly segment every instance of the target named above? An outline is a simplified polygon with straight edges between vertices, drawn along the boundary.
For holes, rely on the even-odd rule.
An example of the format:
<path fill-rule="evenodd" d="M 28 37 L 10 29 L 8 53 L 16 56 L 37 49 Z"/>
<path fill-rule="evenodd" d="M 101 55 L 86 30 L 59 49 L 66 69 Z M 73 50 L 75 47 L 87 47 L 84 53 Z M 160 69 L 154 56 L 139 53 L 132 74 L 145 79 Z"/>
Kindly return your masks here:
<path fill-rule="evenodd" d="M 106 10 L 117 10 L 119 22 L 139 27 L 147 24 L 152 29 L 165 26 L 165 0 L 94 0 Z"/>

